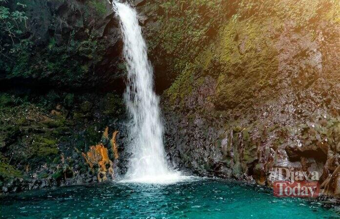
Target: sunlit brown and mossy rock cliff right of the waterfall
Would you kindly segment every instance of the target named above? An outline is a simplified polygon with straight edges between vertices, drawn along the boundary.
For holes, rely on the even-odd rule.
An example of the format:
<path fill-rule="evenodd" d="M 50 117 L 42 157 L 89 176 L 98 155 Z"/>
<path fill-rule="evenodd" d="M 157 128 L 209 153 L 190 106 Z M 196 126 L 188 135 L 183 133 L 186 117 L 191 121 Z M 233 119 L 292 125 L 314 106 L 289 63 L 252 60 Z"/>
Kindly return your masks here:
<path fill-rule="evenodd" d="M 339 2 L 213 2 L 163 1 L 149 28 L 180 72 L 163 95 L 172 165 L 269 186 L 275 167 L 318 171 L 339 195 Z"/>

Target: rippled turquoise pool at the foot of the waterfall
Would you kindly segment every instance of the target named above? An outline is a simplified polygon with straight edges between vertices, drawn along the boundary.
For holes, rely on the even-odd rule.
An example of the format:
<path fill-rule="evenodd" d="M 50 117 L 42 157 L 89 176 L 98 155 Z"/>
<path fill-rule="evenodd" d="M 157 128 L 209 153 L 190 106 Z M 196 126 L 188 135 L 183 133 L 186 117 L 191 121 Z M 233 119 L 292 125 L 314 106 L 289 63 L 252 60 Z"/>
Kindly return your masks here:
<path fill-rule="evenodd" d="M 336 219 L 334 209 L 222 179 L 110 182 L 0 197 L 1 219 Z"/>

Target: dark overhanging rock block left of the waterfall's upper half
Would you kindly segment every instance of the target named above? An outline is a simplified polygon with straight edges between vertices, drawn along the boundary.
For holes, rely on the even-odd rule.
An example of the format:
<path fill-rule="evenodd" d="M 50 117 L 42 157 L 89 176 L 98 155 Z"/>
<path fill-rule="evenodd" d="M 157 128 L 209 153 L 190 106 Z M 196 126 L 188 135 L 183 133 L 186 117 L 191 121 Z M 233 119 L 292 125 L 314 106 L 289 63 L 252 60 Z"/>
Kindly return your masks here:
<path fill-rule="evenodd" d="M 114 86 L 123 91 L 122 34 L 111 4 L 32 0 L 24 11 L 28 19 L 22 38 L 27 45 L 21 45 L 21 54 L 14 54 L 16 63 L 9 61 L 0 71 L 0 82 L 52 84 L 67 90 L 106 91 Z"/>

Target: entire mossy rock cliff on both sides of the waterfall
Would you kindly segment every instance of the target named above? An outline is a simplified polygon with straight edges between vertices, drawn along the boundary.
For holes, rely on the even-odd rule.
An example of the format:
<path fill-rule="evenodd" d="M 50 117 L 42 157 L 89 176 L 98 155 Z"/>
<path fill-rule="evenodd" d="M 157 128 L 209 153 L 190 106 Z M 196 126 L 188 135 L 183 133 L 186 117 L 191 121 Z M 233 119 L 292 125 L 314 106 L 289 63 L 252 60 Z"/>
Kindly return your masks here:
<path fill-rule="evenodd" d="M 96 145 L 106 125 L 121 133 L 124 173 L 125 64 L 111 5 L 6 6 L 19 10 L 17 2 L 27 20 L 13 43 L 1 35 L 0 187 L 96 181 L 77 151 Z M 325 193 L 340 196 L 339 1 L 131 3 L 163 93 L 174 168 L 268 186 L 275 167 L 318 171 Z"/>

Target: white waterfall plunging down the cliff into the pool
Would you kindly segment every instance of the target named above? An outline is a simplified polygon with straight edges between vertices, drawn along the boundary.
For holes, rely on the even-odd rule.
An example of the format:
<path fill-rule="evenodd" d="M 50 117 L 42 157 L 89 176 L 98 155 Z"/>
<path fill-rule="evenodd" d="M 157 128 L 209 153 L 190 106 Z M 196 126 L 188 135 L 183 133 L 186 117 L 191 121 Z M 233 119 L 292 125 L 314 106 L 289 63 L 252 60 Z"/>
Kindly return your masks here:
<path fill-rule="evenodd" d="M 120 17 L 127 62 L 124 99 L 132 120 L 129 127 L 131 158 L 125 178 L 140 182 L 173 180 L 178 173 L 168 168 L 163 145 L 159 98 L 153 90 L 153 68 L 148 60 L 137 13 L 127 3 L 114 2 Z"/>

